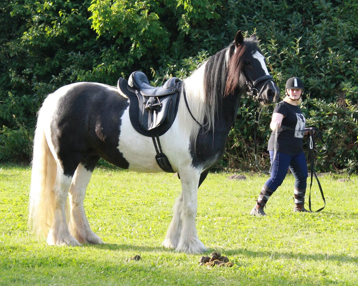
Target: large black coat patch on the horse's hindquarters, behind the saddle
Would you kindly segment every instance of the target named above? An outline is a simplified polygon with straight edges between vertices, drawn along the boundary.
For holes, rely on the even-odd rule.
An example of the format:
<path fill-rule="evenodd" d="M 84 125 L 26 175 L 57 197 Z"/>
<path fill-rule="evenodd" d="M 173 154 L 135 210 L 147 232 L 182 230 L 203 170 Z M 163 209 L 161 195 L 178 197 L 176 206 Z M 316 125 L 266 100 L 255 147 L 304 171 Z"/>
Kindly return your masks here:
<path fill-rule="evenodd" d="M 74 85 L 59 99 L 50 127 L 64 175 L 73 176 L 80 162 L 92 172 L 100 157 L 129 167 L 117 149 L 121 117 L 128 105 L 116 90 L 95 83 Z"/>

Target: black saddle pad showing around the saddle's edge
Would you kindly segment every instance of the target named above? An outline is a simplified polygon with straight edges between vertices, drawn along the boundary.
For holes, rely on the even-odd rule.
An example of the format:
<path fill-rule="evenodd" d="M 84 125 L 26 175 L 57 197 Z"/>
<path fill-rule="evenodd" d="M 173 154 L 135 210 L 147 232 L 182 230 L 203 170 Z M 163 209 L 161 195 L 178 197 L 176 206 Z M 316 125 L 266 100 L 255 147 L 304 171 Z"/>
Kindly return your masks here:
<path fill-rule="evenodd" d="M 143 104 L 143 103 L 139 102 L 139 99 L 136 94 L 134 94 L 133 92 L 128 90 L 128 88 L 127 88 L 128 81 L 125 80 L 124 78 L 121 77 L 118 80 L 117 86 L 118 86 L 118 89 L 120 89 L 121 93 L 125 94 L 129 99 L 129 118 L 130 118 L 133 128 L 138 133 L 140 133 L 144 136 L 147 136 L 147 137 L 152 137 L 152 135 L 157 133 L 157 130 L 158 130 L 159 136 L 163 135 L 165 132 L 167 132 L 169 130 L 169 128 L 171 127 L 171 125 L 174 122 L 176 114 L 178 113 L 178 106 L 179 106 L 179 100 L 180 100 L 179 92 L 178 92 L 178 96 L 174 96 L 171 99 L 171 100 L 173 100 L 173 103 L 172 103 L 173 106 L 171 106 L 171 109 L 173 109 L 173 110 L 171 110 L 171 111 L 165 110 L 163 115 L 159 114 L 160 116 L 164 116 L 164 115 L 166 116 L 166 118 L 163 120 L 163 123 L 161 125 L 159 125 L 159 127 L 147 131 L 141 127 L 141 122 L 139 122 L 139 117 L 140 117 L 140 113 L 141 113 L 139 105 Z"/>

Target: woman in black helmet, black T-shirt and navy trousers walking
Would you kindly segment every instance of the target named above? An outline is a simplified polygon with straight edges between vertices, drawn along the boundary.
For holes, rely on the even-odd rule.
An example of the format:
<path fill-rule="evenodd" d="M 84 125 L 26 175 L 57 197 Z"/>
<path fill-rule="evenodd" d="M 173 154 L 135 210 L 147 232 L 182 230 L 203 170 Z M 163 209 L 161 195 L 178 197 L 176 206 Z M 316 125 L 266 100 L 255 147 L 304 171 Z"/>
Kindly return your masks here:
<path fill-rule="evenodd" d="M 290 168 L 296 179 L 294 188 L 295 208 L 293 211 L 309 212 L 304 208 L 308 177 L 306 157 L 303 152 L 304 132 L 297 131 L 304 129 L 306 124 L 306 119 L 299 107 L 302 102 L 301 95 L 303 90 L 304 85 L 299 77 L 289 78 L 286 82 L 286 97 L 274 109 L 270 123 L 272 134 L 267 148 L 270 152 L 272 164 L 271 177 L 263 185 L 257 204 L 251 210 L 250 214 L 252 215 L 266 215 L 263 208 L 277 187 L 282 184 L 288 168 Z M 275 130 L 276 126 L 281 126 L 281 123 L 283 126 L 292 128 L 295 131 L 277 130 L 276 157 L 273 161 Z"/>

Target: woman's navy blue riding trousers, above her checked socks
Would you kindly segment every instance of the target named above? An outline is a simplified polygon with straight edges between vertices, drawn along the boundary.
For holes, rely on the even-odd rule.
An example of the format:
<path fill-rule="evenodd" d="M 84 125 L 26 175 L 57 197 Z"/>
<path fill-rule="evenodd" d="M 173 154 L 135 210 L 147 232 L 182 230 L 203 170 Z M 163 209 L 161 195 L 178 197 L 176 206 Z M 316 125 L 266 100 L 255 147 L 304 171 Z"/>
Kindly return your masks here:
<path fill-rule="evenodd" d="M 302 151 L 300 154 L 291 156 L 276 152 L 275 161 L 272 162 L 274 151 L 269 152 L 271 164 L 273 164 L 273 166 L 271 177 L 265 182 L 265 186 L 269 187 L 272 192 L 276 191 L 284 181 L 288 168 L 290 168 L 292 175 L 294 175 L 296 179 L 295 189 L 306 190 L 308 172 L 305 153 Z"/>

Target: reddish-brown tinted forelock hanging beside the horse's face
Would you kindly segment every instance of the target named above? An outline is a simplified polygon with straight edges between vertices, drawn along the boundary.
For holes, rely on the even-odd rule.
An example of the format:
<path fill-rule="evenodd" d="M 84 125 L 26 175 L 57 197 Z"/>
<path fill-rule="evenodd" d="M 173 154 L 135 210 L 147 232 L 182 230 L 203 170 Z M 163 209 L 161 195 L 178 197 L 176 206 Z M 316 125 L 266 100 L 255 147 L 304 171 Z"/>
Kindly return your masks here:
<path fill-rule="evenodd" d="M 245 59 L 250 57 L 253 51 L 259 50 L 257 40 L 244 40 L 244 42 L 236 48 L 228 62 L 227 80 L 224 96 L 232 95 L 239 87 L 240 75 L 242 74 Z"/>

